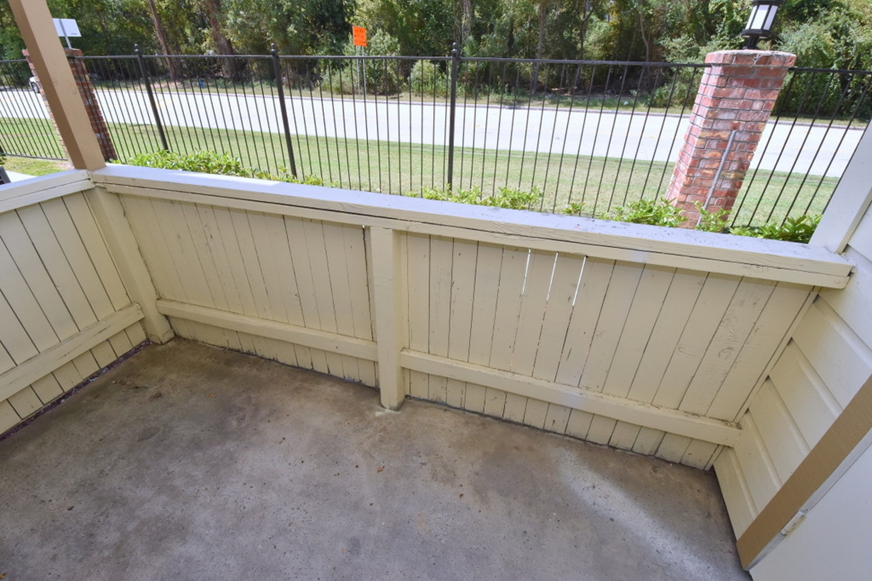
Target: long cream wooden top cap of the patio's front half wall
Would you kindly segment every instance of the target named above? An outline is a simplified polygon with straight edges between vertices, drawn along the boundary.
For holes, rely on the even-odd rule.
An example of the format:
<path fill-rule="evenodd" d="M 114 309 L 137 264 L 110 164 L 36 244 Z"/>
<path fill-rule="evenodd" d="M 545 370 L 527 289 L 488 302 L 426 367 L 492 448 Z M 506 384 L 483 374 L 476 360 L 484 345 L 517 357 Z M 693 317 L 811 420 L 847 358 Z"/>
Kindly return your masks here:
<path fill-rule="evenodd" d="M 853 265 L 822 247 L 577 216 L 469 206 L 322 186 L 111 165 L 92 172 L 110 191 L 327 213 L 324 220 L 820 287 L 845 287 Z M 194 195 L 194 198 L 190 197 Z M 311 215 L 311 212 L 310 212 Z"/>

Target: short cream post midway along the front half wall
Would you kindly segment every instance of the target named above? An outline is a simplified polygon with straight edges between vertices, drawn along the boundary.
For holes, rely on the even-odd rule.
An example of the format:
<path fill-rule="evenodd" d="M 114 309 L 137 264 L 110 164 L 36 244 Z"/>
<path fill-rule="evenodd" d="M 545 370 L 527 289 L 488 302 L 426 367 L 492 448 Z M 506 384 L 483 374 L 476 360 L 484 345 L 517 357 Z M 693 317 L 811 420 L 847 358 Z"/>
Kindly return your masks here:
<path fill-rule="evenodd" d="M 371 227 L 372 284 L 378 341 L 378 388 L 385 408 L 405 401 L 399 352 L 405 348 L 405 253 L 400 236 L 389 228 Z"/>

